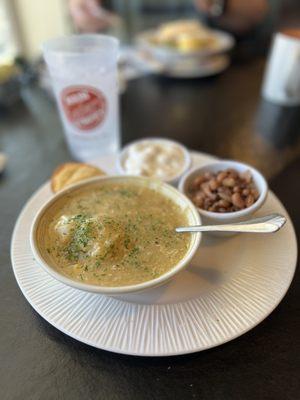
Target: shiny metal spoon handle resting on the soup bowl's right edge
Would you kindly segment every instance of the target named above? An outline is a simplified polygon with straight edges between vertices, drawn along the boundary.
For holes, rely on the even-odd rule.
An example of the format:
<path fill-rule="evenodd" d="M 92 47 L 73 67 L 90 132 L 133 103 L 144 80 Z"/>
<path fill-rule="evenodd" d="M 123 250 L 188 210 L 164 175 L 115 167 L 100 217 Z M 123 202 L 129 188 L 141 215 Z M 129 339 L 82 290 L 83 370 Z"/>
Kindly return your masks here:
<path fill-rule="evenodd" d="M 176 232 L 277 232 L 286 223 L 286 218 L 280 214 L 270 214 L 261 218 L 226 225 L 196 225 L 176 228 Z"/>

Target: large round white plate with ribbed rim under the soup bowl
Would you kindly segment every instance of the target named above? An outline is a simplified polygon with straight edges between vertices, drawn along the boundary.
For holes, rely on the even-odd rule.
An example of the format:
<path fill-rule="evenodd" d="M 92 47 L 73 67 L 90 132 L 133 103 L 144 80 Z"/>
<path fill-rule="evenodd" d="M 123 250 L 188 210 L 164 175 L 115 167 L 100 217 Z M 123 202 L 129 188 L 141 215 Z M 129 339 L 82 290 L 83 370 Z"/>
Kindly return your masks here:
<path fill-rule="evenodd" d="M 201 154 L 193 159 L 195 165 L 213 160 Z M 112 172 L 114 159 L 97 164 Z M 46 183 L 21 212 L 12 238 L 13 270 L 24 296 L 44 319 L 89 345 L 140 356 L 218 346 L 266 318 L 292 281 L 297 244 L 288 218 L 274 235 L 203 238 L 191 266 L 157 289 L 119 298 L 72 289 L 44 272 L 30 250 L 32 219 L 50 196 Z M 271 212 L 287 216 L 272 193 L 259 214 Z"/>

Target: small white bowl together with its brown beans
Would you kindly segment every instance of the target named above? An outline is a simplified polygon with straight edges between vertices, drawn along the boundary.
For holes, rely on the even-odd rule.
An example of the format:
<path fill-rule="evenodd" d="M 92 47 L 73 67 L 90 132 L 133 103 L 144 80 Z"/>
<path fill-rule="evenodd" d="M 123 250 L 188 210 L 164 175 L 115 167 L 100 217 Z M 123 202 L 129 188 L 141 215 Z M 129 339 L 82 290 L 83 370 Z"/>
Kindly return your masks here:
<path fill-rule="evenodd" d="M 192 169 L 178 187 L 195 204 L 204 224 L 244 221 L 263 205 L 268 192 L 259 171 L 230 160 Z"/>

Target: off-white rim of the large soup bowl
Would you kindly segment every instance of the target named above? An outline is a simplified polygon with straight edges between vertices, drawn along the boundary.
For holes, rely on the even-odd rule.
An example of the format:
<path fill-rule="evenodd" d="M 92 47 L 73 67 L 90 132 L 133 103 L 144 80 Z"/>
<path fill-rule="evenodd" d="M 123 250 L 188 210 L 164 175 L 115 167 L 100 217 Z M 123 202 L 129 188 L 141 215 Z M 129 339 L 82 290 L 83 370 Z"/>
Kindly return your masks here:
<path fill-rule="evenodd" d="M 194 236 L 193 242 L 191 244 L 190 249 L 186 253 L 186 255 L 174 266 L 172 267 L 169 271 L 167 271 L 165 274 L 160 275 L 159 277 L 155 279 L 151 279 L 149 281 L 141 282 L 135 285 L 127 285 L 127 286 L 99 286 L 99 285 L 92 285 L 88 283 L 81 283 L 79 281 L 73 280 L 71 278 L 68 278 L 64 276 L 63 274 L 60 274 L 58 271 L 56 271 L 54 268 L 52 268 L 48 263 L 44 260 L 39 247 L 38 243 L 36 240 L 36 231 L 38 228 L 39 221 L 42 217 L 42 215 L 46 212 L 46 210 L 53 204 L 55 203 L 59 198 L 65 196 L 66 194 L 70 193 L 73 190 L 77 190 L 80 187 L 88 186 L 89 184 L 92 184 L 94 182 L 101 182 L 103 180 L 126 180 L 126 179 L 134 179 L 134 180 L 140 180 L 140 181 L 154 181 L 158 184 L 159 186 L 167 186 L 168 190 L 173 192 L 177 197 L 180 197 L 186 205 L 191 209 L 193 217 L 195 218 L 195 223 L 196 224 L 201 224 L 201 217 L 197 211 L 197 208 L 195 205 L 189 200 L 187 196 L 185 196 L 183 193 L 179 192 L 176 188 L 174 188 L 171 185 L 168 185 L 165 182 L 162 182 L 158 179 L 152 179 L 152 178 L 146 178 L 146 177 L 140 177 L 140 176 L 134 176 L 134 175 L 112 175 L 112 176 L 97 176 L 93 177 L 90 179 L 86 179 L 82 182 L 79 182 L 77 184 L 74 184 L 72 186 L 69 186 L 60 192 L 56 193 L 54 196 L 52 196 L 49 200 L 46 201 L 42 205 L 42 207 L 38 210 L 37 214 L 34 217 L 34 220 L 31 225 L 30 229 L 30 246 L 31 250 L 33 252 L 35 260 L 38 262 L 39 266 L 41 266 L 44 271 L 46 271 L 48 274 L 50 274 L 53 278 L 56 280 L 74 287 L 76 289 L 80 289 L 83 291 L 87 292 L 93 292 L 93 293 L 98 293 L 98 294 L 107 294 L 107 295 L 117 295 L 117 294 L 123 294 L 123 293 L 134 293 L 138 291 L 143 291 L 145 289 L 153 288 L 156 286 L 161 285 L 162 283 L 168 281 L 170 278 L 172 278 L 175 274 L 177 274 L 179 271 L 184 269 L 191 259 L 193 258 L 195 252 L 197 251 L 202 235 L 200 233 L 197 233 Z"/>

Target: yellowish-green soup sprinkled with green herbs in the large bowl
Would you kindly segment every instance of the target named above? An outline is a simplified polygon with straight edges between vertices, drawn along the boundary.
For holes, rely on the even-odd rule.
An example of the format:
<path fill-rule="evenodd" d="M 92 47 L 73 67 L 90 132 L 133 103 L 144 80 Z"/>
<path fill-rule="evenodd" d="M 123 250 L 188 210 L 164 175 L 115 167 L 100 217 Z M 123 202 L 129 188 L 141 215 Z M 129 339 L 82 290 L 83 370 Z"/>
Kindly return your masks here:
<path fill-rule="evenodd" d="M 40 236 L 49 264 L 71 279 L 100 286 L 145 282 L 187 253 L 187 217 L 170 198 L 135 183 L 76 190 L 43 215 Z"/>

